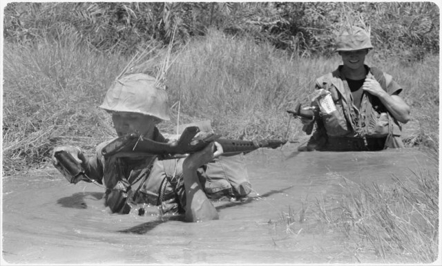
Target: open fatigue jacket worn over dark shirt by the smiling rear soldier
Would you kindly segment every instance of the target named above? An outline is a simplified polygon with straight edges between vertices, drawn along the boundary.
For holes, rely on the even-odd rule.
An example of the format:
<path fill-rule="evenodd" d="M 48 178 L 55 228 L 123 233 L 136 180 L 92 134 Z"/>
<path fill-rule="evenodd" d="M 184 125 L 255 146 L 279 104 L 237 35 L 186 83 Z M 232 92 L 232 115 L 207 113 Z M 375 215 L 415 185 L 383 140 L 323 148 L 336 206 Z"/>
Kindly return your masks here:
<path fill-rule="evenodd" d="M 336 106 L 336 111 L 332 113 L 320 113 L 320 123 L 318 123 L 320 126 L 318 126 L 316 137 L 321 135 L 328 140 L 336 137 L 359 139 L 387 137 L 385 148 L 403 146 L 400 140 L 401 125 L 387 111 L 378 97 L 363 92 L 361 108 L 358 109 L 353 104 L 352 92 L 340 71 L 342 68 L 343 66 L 339 66 L 332 73 L 316 79 L 316 89 L 323 88 L 329 91 Z M 383 73 L 378 68 L 368 66 L 365 68 L 367 78 L 376 79 L 383 90 L 390 95 L 402 91 L 402 88 L 392 80 L 391 75 Z M 312 105 L 317 105 L 317 103 L 312 103 Z M 307 126 L 304 131 L 309 132 L 311 128 Z"/>

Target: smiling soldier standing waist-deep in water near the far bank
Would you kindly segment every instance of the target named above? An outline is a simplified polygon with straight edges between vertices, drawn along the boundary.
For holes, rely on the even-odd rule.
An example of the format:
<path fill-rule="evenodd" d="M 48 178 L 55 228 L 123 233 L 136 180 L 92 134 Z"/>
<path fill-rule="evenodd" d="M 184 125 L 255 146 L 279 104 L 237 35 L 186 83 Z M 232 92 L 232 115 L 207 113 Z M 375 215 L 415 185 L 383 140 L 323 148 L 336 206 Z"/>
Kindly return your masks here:
<path fill-rule="evenodd" d="M 301 118 L 303 131 L 316 131 L 300 151 L 378 151 L 401 148 L 401 124 L 410 120 L 410 107 L 399 97 L 403 90 L 391 75 L 364 64 L 373 48 L 369 32 L 353 26 L 340 32 L 336 51 L 343 64 L 316 79 L 311 102 L 316 118 Z"/>

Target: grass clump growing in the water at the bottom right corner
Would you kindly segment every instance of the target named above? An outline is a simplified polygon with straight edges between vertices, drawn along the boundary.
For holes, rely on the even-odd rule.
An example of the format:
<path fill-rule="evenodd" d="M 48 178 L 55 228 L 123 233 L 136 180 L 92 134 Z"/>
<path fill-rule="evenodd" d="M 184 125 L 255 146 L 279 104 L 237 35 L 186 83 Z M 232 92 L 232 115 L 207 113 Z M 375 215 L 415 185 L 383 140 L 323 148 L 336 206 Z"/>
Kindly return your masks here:
<path fill-rule="evenodd" d="M 439 252 L 439 179 L 430 170 L 394 177 L 394 185 L 347 184 L 338 207 L 318 200 L 316 216 L 359 252 L 387 261 L 432 263 Z M 351 189 L 350 189 L 351 188 Z"/>

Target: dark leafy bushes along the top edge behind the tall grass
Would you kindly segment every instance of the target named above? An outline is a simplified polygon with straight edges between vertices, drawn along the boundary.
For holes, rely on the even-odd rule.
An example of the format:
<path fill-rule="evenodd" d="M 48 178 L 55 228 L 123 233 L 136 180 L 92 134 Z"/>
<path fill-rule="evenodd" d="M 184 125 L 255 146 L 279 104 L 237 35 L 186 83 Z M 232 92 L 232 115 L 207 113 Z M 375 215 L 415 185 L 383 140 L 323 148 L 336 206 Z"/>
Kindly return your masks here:
<path fill-rule="evenodd" d="M 343 26 L 369 26 L 376 48 L 408 60 L 439 53 L 439 7 L 401 3 L 8 3 L 6 41 L 75 36 L 90 48 L 133 55 L 153 40 L 187 43 L 210 28 L 296 55 L 331 55 Z M 401 53 L 402 54 L 402 53 Z"/>

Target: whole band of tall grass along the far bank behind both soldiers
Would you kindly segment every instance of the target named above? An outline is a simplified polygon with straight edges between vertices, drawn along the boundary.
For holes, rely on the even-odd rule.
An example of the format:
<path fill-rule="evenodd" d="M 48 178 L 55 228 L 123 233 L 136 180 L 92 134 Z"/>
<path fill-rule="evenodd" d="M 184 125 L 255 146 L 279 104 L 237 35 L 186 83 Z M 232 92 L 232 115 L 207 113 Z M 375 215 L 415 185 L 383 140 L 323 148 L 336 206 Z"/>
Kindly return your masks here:
<path fill-rule="evenodd" d="M 35 46 L 5 43 L 3 53 L 3 173 L 46 162 L 55 145 L 92 151 L 114 135 L 98 106 L 127 58 L 88 50 L 69 38 Z M 408 88 L 403 97 L 421 123 L 413 134 L 439 143 L 439 62 L 427 58 L 406 66 L 394 59 L 370 60 Z M 339 63 L 337 56 L 300 58 L 213 30 L 180 50 L 169 69 L 173 119 L 160 129 L 172 131 L 180 106 L 180 122 L 209 119 L 225 137 L 297 140 L 305 136 L 300 122 L 285 111 L 296 102 L 308 104 L 315 77 Z"/>

